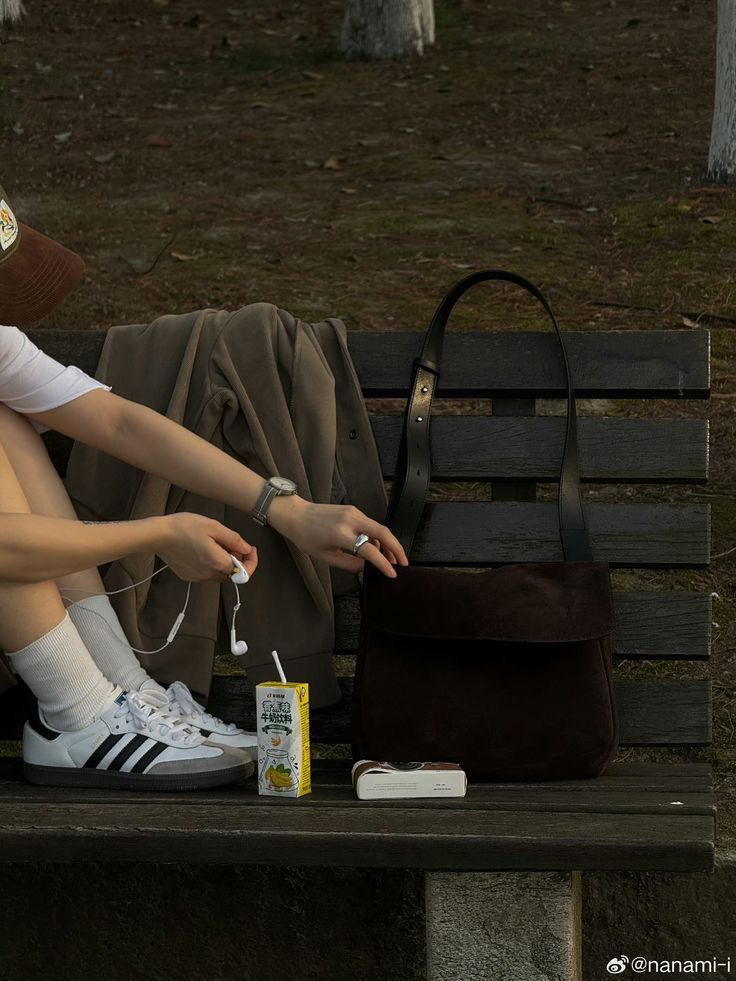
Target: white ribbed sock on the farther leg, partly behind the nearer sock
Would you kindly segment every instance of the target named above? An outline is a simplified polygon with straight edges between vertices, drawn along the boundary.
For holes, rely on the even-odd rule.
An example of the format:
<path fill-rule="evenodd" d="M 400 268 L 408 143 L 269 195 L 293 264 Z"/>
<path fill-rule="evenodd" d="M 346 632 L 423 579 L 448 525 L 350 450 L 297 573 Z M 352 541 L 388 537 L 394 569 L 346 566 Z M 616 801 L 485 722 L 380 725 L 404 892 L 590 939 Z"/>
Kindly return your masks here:
<path fill-rule="evenodd" d="M 150 680 L 150 675 L 130 648 L 109 596 L 86 596 L 67 607 L 67 613 L 97 667 L 110 681 L 126 691 L 138 691 Z"/>

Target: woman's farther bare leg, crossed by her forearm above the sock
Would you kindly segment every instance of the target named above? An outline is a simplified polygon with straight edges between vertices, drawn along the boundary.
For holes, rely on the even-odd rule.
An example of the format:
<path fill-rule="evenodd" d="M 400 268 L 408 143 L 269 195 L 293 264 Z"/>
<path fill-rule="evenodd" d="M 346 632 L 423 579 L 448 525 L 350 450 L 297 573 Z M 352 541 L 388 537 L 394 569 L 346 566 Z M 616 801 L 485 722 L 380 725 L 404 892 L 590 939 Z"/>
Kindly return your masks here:
<path fill-rule="evenodd" d="M 26 510 L 30 508 L 33 514 L 45 514 L 52 518 L 76 519 L 74 505 L 49 459 L 43 440 L 28 419 L 2 404 L 0 443 L 25 493 Z M 68 589 L 72 602 L 105 591 L 97 568 L 62 576 L 57 580 L 57 585 L 62 593 Z"/>

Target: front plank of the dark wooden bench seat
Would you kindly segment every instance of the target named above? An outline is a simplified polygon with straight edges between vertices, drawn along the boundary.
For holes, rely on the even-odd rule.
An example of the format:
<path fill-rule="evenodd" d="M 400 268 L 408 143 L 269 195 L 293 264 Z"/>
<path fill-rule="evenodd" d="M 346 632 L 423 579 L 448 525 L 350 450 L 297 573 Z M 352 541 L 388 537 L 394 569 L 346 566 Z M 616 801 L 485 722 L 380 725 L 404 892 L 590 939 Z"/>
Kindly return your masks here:
<path fill-rule="evenodd" d="M 702 814 L 299 806 L 242 793 L 225 804 L 8 803 L 0 856 L 420 869 L 709 871 L 715 821 Z M 241 802 L 242 801 L 242 802 Z M 444 802 L 440 802 L 444 804 Z M 406 806 L 408 805 L 408 806 Z"/>

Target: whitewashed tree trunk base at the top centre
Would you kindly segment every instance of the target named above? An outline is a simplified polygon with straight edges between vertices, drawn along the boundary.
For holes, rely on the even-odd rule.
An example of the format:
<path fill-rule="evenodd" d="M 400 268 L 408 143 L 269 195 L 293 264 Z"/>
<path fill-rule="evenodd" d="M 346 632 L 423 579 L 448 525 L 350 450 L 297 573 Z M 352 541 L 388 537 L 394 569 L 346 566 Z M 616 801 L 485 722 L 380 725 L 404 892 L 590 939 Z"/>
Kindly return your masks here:
<path fill-rule="evenodd" d="M 347 0 L 340 50 L 348 58 L 403 58 L 434 44 L 434 0 Z"/>

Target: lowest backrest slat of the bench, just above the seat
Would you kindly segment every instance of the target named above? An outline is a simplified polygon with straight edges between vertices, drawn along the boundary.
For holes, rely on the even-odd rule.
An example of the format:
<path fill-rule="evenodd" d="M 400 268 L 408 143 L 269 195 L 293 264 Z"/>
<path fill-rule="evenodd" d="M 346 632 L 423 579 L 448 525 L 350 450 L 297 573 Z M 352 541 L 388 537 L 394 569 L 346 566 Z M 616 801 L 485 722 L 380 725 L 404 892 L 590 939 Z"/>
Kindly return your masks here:
<path fill-rule="evenodd" d="M 315 743 L 349 743 L 353 679 L 339 678 L 343 698 L 312 712 Z M 706 745 L 711 740 L 710 683 L 699 678 L 616 681 L 622 746 Z M 245 729 L 255 729 L 253 688 L 247 678 L 216 675 L 209 709 Z"/>

